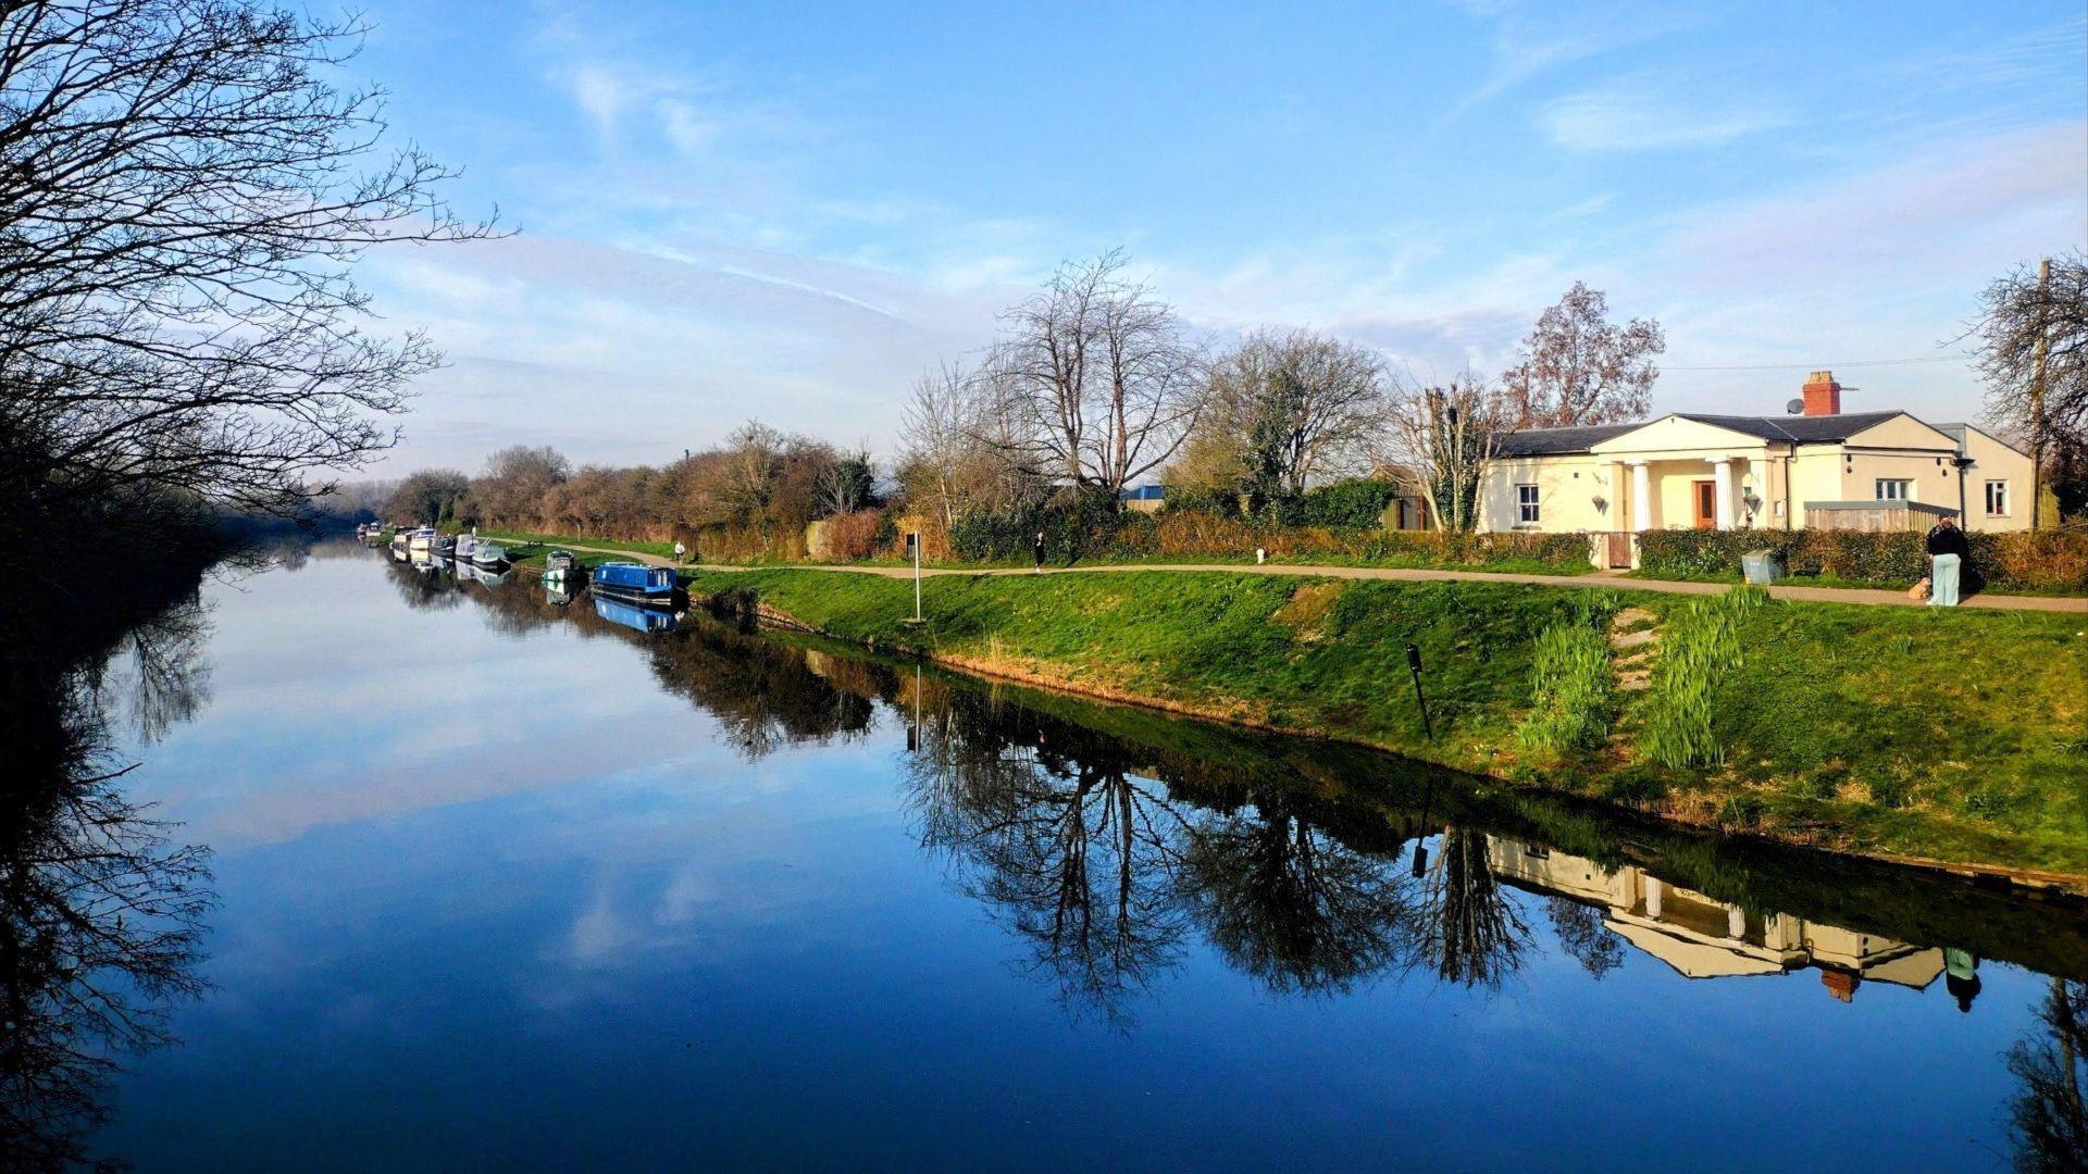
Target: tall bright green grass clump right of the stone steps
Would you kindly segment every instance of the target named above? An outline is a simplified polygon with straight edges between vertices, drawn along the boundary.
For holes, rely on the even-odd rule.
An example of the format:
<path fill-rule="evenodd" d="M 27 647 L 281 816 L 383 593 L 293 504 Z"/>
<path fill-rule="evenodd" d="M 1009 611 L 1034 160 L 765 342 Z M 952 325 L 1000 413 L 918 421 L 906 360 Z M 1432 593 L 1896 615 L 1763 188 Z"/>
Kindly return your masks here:
<path fill-rule="evenodd" d="M 1645 731 L 1639 746 L 1662 767 L 1712 767 L 1725 750 L 1710 729 L 1710 691 L 1746 654 L 1739 623 L 1769 602 L 1752 585 L 1698 600 L 1660 633 L 1660 660 L 1645 687 Z"/>

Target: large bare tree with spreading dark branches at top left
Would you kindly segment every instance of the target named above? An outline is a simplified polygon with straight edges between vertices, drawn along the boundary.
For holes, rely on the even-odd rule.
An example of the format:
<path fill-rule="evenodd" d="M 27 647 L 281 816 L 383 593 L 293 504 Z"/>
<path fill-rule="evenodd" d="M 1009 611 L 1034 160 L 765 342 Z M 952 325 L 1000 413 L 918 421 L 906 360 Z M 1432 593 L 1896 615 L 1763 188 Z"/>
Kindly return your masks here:
<path fill-rule="evenodd" d="M 0 439 L 38 485 L 288 510 L 395 443 L 432 368 L 380 338 L 372 244 L 464 240 L 451 171 L 332 81 L 363 27 L 265 0 L 0 8 Z"/>

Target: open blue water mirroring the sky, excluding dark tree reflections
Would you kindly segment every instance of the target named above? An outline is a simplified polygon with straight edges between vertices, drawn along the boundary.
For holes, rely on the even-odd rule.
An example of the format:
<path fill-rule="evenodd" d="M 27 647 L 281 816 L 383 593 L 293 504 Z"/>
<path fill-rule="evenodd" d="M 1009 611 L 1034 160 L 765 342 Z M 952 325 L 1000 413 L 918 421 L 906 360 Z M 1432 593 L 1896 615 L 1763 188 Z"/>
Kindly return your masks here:
<path fill-rule="evenodd" d="M 138 794 L 217 846 L 142 1168 L 1842 1168 L 2004 1164 L 2044 980 L 1276 996 L 1196 934 L 1079 1015 L 921 850 L 892 714 L 748 762 L 631 639 L 407 610 L 380 562 L 213 587 L 211 706 Z"/>

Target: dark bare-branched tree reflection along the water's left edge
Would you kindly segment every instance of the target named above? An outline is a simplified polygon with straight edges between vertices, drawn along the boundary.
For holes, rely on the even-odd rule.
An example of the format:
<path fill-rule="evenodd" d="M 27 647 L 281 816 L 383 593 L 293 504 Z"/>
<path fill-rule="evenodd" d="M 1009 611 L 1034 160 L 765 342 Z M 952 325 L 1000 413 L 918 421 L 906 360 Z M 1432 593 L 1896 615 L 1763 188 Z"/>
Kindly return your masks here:
<path fill-rule="evenodd" d="M 56 616 L 54 616 L 56 618 Z M 86 1134 L 125 1053 L 171 1042 L 173 1001 L 194 976 L 211 907 L 209 852 L 117 785 L 111 714 L 150 742 L 203 702 L 207 633 L 194 595 L 81 648 L 13 645 L 0 783 L 0 1155 L 8 1168 L 90 1164 Z"/>

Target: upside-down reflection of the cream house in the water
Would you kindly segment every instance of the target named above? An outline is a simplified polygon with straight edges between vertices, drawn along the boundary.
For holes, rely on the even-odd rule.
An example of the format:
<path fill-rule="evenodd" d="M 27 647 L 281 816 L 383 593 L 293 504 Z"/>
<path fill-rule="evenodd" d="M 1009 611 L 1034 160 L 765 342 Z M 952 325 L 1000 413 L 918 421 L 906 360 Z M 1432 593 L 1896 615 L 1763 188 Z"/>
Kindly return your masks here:
<path fill-rule="evenodd" d="M 1748 913 L 1637 867 L 1604 873 L 1585 856 L 1503 838 L 1493 840 L 1491 854 L 1495 873 L 1510 884 L 1604 907 L 1604 925 L 1687 978 L 1814 967 L 1821 971 L 1821 986 L 1850 1003 L 1862 982 L 1923 990 L 1944 973 L 1942 948 L 1911 946 L 1789 913 Z M 1956 969 L 1965 976 L 1952 973 L 1950 982 L 1950 992 L 1965 1009 L 1977 990 L 1969 963 L 1969 957 L 1963 959 Z"/>

